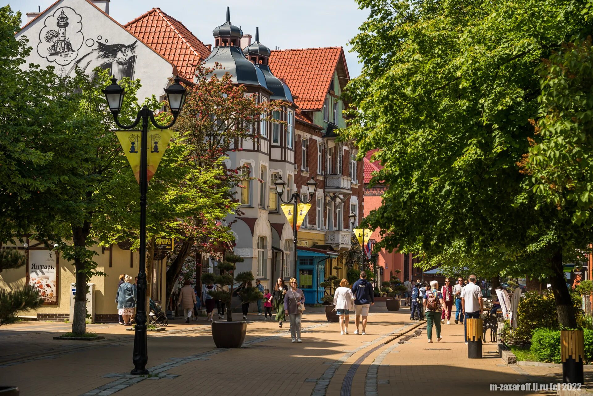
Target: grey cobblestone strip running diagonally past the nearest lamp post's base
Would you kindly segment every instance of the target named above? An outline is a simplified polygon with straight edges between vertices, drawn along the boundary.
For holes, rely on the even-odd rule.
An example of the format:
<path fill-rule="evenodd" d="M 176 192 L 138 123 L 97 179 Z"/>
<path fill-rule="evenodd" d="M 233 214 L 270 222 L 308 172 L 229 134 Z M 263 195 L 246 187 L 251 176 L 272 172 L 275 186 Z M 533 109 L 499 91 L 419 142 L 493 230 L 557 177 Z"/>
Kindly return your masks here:
<path fill-rule="evenodd" d="M 314 328 L 324 327 L 327 326 L 329 323 L 320 323 L 315 324 L 313 326 L 305 327 L 303 330 L 313 330 Z M 250 346 L 251 344 L 261 343 L 263 341 L 275 340 L 276 338 L 280 338 L 282 336 L 286 336 L 286 334 L 290 334 L 290 331 L 283 331 L 282 333 L 275 334 L 274 336 L 264 336 L 264 337 L 257 337 L 252 338 L 251 340 L 245 341 L 243 343 L 243 347 Z M 176 374 L 169 374 L 167 370 L 176 368 L 178 366 L 185 365 L 190 362 L 194 362 L 195 360 L 209 360 L 211 356 L 217 355 L 218 353 L 222 353 L 227 351 L 228 349 L 211 349 L 206 352 L 196 353 L 195 355 L 190 355 L 186 357 L 173 357 L 169 359 L 169 362 L 161 363 L 160 365 L 151 367 L 148 369 L 149 375 L 148 376 L 138 376 L 138 375 L 131 375 L 127 373 L 110 373 L 104 375 L 107 378 L 117 378 L 115 381 L 111 381 L 108 384 L 101 385 L 98 388 L 95 388 L 91 391 L 88 391 L 81 396 L 109 396 L 116 392 L 121 391 L 131 385 L 138 384 L 138 382 L 144 381 L 145 379 L 161 379 L 161 378 L 168 378 L 173 379 L 176 378 L 178 375 Z"/>

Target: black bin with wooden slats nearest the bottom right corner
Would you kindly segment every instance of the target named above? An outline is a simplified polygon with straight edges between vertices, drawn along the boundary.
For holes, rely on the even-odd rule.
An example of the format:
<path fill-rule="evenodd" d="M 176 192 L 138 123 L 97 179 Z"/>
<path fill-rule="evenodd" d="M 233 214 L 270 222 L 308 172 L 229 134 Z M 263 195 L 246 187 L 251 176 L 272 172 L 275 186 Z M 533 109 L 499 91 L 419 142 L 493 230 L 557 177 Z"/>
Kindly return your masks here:
<path fill-rule="evenodd" d="M 583 359 L 585 338 L 582 330 L 560 331 L 560 359 L 563 381 L 570 384 L 584 384 Z"/>

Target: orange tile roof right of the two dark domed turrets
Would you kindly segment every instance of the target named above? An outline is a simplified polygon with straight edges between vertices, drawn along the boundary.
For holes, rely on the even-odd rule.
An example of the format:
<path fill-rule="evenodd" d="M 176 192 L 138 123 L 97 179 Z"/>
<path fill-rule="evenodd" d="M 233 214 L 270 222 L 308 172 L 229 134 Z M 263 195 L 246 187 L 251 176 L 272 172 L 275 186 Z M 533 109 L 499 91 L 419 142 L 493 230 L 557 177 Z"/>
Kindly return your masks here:
<path fill-rule="evenodd" d="M 273 50 L 269 65 L 272 73 L 283 79 L 297 97 L 295 104 L 301 110 L 319 111 L 340 60 L 349 78 L 342 47 Z"/>

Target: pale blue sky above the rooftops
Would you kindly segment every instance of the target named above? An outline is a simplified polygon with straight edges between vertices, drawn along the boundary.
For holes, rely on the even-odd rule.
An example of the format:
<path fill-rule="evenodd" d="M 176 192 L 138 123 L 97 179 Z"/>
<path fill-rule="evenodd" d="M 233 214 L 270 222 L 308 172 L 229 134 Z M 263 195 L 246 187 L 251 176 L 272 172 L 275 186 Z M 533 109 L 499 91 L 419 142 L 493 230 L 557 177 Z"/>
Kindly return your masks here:
<path fill-rule="evenodd" d="M 9 2 L 14 11 L 37 12 L 55 0 L 16 0 Z M 0 0 L 2 6 L 7 2 Z M 368 12 L 358 9 L 354 0 L 111 0 L 109 15 L 126 24 L 151 8 L 181 21 L 205 44 L 213 44 L 212 29 L 225 21 L 227 6 L 231 7 L 231 22 L 241 25 L 244 34 L 255 35 L 259 27 L 260 42 L 270 49 L 338 47 L 343 46 L 350 78 L 360 74 L 361 65 L 356 53 L 350 52 L 348 42 L 358 34 L 358 28 Z"/>

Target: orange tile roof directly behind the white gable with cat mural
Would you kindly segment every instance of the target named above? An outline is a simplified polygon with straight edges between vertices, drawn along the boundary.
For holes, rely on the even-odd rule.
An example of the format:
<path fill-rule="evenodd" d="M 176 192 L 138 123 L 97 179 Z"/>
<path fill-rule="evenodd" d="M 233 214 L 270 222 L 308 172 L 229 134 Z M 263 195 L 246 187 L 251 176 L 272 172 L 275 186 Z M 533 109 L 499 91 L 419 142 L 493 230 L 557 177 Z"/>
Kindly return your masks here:
<path fill-rule="evenodd" d="M 211 52 L 187 27 L 160 8 L 152 8 L 124 27 L 177 66 L 178 75 L 188 81 L 193 81 L 195 65 Z"/>

